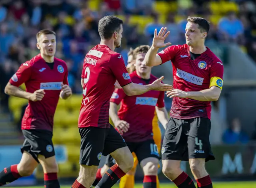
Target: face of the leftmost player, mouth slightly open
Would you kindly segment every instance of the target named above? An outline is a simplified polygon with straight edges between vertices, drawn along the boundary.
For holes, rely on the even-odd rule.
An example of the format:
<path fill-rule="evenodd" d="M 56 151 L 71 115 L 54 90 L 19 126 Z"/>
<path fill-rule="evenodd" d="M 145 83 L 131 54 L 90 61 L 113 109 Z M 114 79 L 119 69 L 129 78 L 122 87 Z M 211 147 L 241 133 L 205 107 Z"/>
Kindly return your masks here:
<path fill-rule="evenodd" d="M 56 37 L 54 34 L 44 35 L 42 34 L 38 39 L 37 48 L 40 49 L 40 53 L 49 57 L 54 56 L 56 52 Z"/>

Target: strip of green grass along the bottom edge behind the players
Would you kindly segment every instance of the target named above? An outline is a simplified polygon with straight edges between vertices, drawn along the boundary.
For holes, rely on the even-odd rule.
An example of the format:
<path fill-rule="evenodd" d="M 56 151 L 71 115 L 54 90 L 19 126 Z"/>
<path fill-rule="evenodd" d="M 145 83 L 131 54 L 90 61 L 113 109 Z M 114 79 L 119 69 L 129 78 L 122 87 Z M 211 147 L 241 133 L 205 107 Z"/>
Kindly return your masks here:
<path fill-rule="evenodd" d="M 61 186 L 61 188 L 70 188 L 70 186 Z M 213 184 L 214 188 L 253 188 L 256 187 L 256 182 L 215 182 Z M 17 187 L 11 187 L 17 188 Z M 44 188 L 44 186 L 33 186 L 28 188 Z M 114 186 L 113 188 L 118 188 L 118 186 Z M 134 188 L 142 188 L 142 184 L 136 184 Z M 162 183 L 160 184 L 160 188 L 176 188 L 174 184 L 170 183 Z"/>

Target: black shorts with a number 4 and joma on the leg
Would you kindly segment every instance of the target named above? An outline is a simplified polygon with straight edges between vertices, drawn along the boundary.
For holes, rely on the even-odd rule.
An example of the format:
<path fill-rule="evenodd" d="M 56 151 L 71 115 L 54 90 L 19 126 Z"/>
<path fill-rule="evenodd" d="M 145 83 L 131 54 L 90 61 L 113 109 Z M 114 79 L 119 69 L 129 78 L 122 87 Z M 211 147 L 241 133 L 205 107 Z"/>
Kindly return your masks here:
<path fill-rule="evenodd" d="M 211 121 L 208 118 L 170 118 L 162 146 L 162 160 L 205 158 L 214 160 L 209 141 Z"/>

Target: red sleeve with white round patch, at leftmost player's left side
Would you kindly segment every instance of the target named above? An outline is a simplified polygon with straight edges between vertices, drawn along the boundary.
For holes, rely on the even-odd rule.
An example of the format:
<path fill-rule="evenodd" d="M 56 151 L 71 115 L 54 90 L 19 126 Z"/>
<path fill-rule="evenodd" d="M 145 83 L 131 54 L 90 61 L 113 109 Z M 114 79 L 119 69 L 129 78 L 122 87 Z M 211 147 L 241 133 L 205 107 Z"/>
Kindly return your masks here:
<path fill-rule="evenodd" d="M 31 69 L 32 67 L 29 61 L 22 63 L 18 71 L 16 71 L 16 73 L 9 80 L 10 84 L 19 87 L 22 85 L 22 83 L 28 81 L 31 76 Z"/>

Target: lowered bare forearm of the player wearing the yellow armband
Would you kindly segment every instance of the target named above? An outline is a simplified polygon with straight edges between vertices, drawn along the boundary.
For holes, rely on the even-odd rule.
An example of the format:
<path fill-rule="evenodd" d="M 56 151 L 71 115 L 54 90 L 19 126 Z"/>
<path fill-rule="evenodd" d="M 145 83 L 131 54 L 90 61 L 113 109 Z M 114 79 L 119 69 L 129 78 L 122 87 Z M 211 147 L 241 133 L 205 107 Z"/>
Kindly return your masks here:
<path fill-rule="evenodd" d="M 197 101 L 217 101 L 220 97 L 220 93 L 213 89 L 205 89 L 202 91 L 189 91 L 187 92 L 189 99 Z"/>

